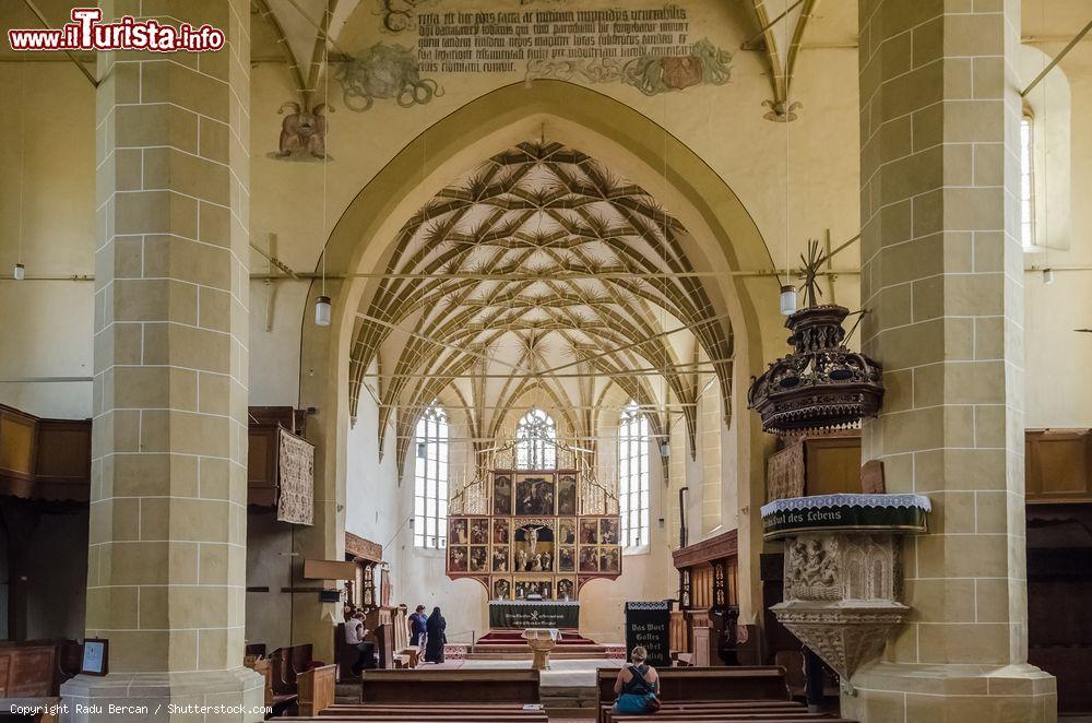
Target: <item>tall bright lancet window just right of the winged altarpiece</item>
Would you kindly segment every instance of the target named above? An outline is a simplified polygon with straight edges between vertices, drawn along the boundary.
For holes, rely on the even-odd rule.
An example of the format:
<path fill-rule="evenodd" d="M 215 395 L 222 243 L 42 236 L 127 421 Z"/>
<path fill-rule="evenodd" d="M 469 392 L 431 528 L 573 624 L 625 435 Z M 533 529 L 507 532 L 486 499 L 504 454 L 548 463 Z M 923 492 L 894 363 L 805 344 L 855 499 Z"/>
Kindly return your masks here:
<path fill-rule="evenodd" d="M 618 425 L 618 508 L 622 547 L 649 544 L 649 419 L 636 402 Z"/>

